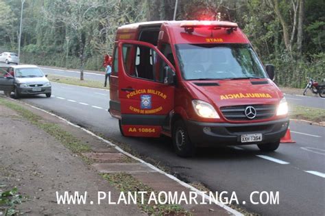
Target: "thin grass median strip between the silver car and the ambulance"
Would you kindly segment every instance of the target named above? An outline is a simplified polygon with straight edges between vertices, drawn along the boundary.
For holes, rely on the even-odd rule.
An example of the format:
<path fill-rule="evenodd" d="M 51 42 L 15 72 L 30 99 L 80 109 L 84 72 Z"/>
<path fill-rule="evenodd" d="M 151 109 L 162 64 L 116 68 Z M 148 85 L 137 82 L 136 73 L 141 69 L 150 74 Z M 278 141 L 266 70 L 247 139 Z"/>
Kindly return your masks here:
<path fill-rule="evenodd" d="M 63 84 L 71 84 L 75 86 L 85 86 L 91 88 L 101 88 L 101 89 L 108 89 L 108 87 L 104 87 L 104 78 L 103 82 L 95 81 L 95 80 L 80 80 L 79 78 L 75 77 L 64 77 L 60 75 L 48 75 L 47 78 L 51 82 L 59 82 Z"/>

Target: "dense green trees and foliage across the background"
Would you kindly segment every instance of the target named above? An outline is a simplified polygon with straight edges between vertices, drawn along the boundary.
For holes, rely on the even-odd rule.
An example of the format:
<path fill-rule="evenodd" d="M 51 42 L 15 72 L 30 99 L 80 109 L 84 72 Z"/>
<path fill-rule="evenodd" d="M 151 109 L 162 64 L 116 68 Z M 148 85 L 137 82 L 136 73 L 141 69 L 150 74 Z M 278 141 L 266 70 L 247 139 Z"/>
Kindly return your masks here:
<path fill-rule="evenodd" d="M 21 60 L 103 70 L 117 27 L 171 20 L 174 6 L 174 0 L 25 0 Z M 325 78 L 324 11 L 319 0 L 179 0 L 176 19 L 239 23 L 263 62 L 276 66 L 276 82 L 302 87 L 307 77 Z M 20 14 L 21 1 L 0 1 L 0 51 L 17 51 Z"/>

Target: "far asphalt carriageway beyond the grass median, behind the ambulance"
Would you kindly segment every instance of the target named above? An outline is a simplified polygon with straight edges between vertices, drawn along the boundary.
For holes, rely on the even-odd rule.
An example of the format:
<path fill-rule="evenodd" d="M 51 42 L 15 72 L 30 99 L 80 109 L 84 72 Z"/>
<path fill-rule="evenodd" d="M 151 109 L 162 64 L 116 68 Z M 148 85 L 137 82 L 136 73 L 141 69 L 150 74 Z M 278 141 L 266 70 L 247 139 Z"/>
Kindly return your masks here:
<path fill-rule="evenodd" d="M 80 72 L 78 71 L 64 71 L 61 69 L 49 69 L 42 68 L 44 73 L 53 74 L 53 75 L 62 75 L 67 77 L 80 77 Z M 85 80 L 97 80 L 104 83 L 104 75 L 98 73 L 84 73 Z M 303 95 L 285 95 L 289 106 L 300 105 L 300 106 L 309 106 L 313 108 L 325 108 L 325 98 L 319 97 L 309 97 Z"/>

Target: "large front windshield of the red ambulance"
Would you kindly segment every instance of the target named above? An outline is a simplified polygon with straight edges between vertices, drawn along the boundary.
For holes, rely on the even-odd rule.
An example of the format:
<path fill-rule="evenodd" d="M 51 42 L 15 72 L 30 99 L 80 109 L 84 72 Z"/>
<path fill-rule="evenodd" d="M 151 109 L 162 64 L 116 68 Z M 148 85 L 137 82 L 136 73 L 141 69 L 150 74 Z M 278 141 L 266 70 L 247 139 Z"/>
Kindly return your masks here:
<path fill-rule="evenodd" d="M 179 44 L 176 50 L 184 80 L 267 77 L 250 45 Z"/>

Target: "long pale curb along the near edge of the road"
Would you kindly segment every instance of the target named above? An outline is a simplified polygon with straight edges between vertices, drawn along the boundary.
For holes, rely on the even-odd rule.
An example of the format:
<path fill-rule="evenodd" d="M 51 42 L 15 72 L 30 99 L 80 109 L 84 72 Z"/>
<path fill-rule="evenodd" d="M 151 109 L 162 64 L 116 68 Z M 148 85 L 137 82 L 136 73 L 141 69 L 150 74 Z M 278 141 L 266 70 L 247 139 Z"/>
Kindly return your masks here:
<path fill-rule="evenodd" d="M 12 99 L 12 98 L 10 98 Z M 16 101 L 15 99 L 12 99 L 14 101 Z M 33 106 L 31 104 L 27 104 L 27 103 L 24 103 L 26 106 L 29 106 L 29 107 L 32 107 L 36 110 L 40 110 L 42 112 L 45 112 L 51 116 L 54 116 L 54 117 L 57 117 L 58 119 L 66 122 L 67 124 L 69 125 L 72 125 L 73 127 L 75 128 L 80 128 L 81 130 L 84 130 L 84 132 L 90 134 L 91 136 L 95 136 L 97 139 L 103 141 L 104 143 L 108 144 L 110 147 L 114 147 L 115 149 L 117 149 L 117 151 L 121 152 L 122 154 L 124 154 L 125 156 L 129 156 L 130 158 L 134 159 L 134 160 L 137 160 L 139 161 L 140 163 L 142 163 L 143 165 L 146 165 L 147 167 L 149 167 L 150 169 L 153 169 L 154 171 L 157 171 L 158 173 L 161 173 L 165 176 L 167 176 L 168 178 L 170 178 L 171 180 L 174 180 L 176 182 L 178 182 L 178 184 L 182 185 L 183 187 L 185 187 L 186 189 L 190 189 L 191 191 L 195 191 L 195 193 L 197 193 L 197 195 L 200 195 L 202 197 L 205 197 L 207 200 L 209 199 L 208 195 L 206 195 L 205 193 L 202 193 L 202 191 L 199 191 L 198 189 L 196 189 L 195 187 L 191 186 L 190 184 L 187 184 L 186 182 L 183 182 L 182 180 L 179 180 L 178 178 L 176 178 L 175 176 L 172 176 L 171 174 L 169 173 L 166 173 L 165 171 L 159 169 L 158 167 L 155 167 L 154 165 L 150 164 L 150 163 L 147 163 L 145 162 L 144 160 L 140 159 L 140 158 L 137 158 L 136 156 L 133 156 L 132 154 L 128 153 L 128 152 L 125 152 L 123 149 L 121 149 L 119 146 L 115 145 L 114 143 L 111 143 L 110 141 L 106 140 L 106 139 L 103 139 L 101 138 L 100 136 L 97 136 L 95 133 L 91 132 L 90 130 L 87 130 L 86 128 L 82 128 L 80 127 L 79 125 L 75 125 L 74 123 L 72 123 L 71 121 L 67 120 L 67 119 L 64 119 L 63 117 L 60 117 L 58 115 L 55 115 L 51 112 L 48 112 L 47 110 L 43 110 L 42 108 L 38 108 L 36 106 Z M 221 207 L 221 208 L 224 208 L 226 211 L 228 211 L 229 213 L 232 213 L 233 215 L 236 215 L 236 216 L 243 216 L 242 213 L 239 213 L 239 211 L 236 211 L 234 210 L 233 208 L 230 208 L 229 206 L 226 206 L 225 204 L 221 204 L 219 202 L 217 202 L 217 206 Z"/>

